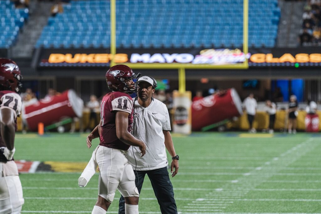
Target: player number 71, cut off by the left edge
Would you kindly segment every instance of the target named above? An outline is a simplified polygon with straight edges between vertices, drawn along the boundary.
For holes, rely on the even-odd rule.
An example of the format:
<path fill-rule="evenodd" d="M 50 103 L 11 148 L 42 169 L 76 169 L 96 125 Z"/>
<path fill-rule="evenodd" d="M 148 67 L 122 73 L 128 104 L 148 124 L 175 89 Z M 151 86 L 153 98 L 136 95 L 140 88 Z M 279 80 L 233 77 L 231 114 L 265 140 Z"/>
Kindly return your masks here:
<path fill-rule="evenodd" d="M 13 160 L 14 135 L 22 100 L 21 72 L 10 59 L 0 58 L 0 213 L 20 214 L 24 199 L 18 168 Z"/>

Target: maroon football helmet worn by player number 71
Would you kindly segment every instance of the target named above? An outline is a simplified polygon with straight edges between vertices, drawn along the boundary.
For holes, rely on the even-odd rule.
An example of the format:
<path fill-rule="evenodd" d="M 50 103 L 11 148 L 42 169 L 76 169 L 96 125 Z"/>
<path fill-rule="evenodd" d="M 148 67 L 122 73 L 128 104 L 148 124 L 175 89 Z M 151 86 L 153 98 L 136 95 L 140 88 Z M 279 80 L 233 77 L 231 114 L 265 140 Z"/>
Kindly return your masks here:
<path fill-rule="evenodd" d="M 22 83 L 20 69 L 11 59 L 0 58 L 0 89 L 20 94 Z"/>

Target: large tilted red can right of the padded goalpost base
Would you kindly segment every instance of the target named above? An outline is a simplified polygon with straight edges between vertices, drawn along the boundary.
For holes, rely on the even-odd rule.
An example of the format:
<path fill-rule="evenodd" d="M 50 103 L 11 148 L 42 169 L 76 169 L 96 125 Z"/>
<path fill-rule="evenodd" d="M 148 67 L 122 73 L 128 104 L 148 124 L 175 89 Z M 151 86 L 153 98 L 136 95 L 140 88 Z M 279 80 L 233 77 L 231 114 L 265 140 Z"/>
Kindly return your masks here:
<path fill-rule="evenodd" d="M 192 103 L 192 130 L 198 131 L 242 114 L 242 102 L 237 91 L 234 88 L 228 89 Z"/>

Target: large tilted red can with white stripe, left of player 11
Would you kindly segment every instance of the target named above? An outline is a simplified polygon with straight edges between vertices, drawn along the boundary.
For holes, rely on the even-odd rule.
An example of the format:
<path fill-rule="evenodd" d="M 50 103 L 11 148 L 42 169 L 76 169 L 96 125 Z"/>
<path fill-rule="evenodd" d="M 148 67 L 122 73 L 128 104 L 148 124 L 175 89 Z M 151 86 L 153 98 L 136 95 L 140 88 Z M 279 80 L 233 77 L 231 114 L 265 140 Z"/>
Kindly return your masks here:
<path fill-rule="evenodd" d="M 59 122 L 66 117 L 81 117 L 83 101 L 74 90 L 67 90 L 60 95 L 40 99 L 37 103 L 22 109 L 23 119 L 31 131 L 37 131 L 38 123 L 44 126 Z"/>

